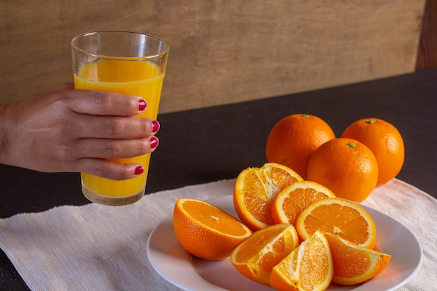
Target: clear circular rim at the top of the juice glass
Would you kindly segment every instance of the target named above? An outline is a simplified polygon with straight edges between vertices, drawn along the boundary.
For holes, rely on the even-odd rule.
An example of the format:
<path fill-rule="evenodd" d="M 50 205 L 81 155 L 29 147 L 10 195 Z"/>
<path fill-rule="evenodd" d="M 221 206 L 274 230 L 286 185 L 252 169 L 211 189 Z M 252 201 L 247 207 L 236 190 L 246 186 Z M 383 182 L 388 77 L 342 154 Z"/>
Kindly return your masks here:
<path fill-rule="evenodd" d="M 128 33 L 128 34 L 136 34 L 139 36 L 147 36 L 149 38 L 154 38 L 155 40 L 160 41 L 161 43 L 163 43 L 165 45 L 165 50 L 163 50 L 162 52 L 159 52 L 157 54 L 149 54 L 147 56 L 143 56 L 143 57 L 114 57 L 114 56 L 108 56 L 105 54 L 96 54 L 93 52 L 89 52 L 87 50 L 84 50 L 80 47 L 78 47 L 75 44 L 75 41 L 79 38 L 83 38 L 85 36 L 91 36 L 97 33 Z M 101 59 L 119 59 L 119 60 L 145 60 L 145 59 L 154 59 L 156 57 L 161 57 L 165 54 L 168 54 L 168 50 L 169 50 L 169 46 L 168 43 L 166 43 L 164 40 L 161 40 L 161 38 L 157 38 L 156 36 L 151 36 L 149 34 L 146 33 L 140 33 L 140 32 L 134 32 L 134 31 L 117 31 L 117 30 L 103 30 L 103 31 L 91 31 L 91 32 L 87 32 L 87 33 L 82 33 L 79 34 L 78 36 L 75 36 L 72 40 L 71 40 L 71 47 L 73 48 L 73 50 L 76 50 L 77 52 L 82 52 L 84 54 L 89 54 L 93 57 L 98 57 Z"/>

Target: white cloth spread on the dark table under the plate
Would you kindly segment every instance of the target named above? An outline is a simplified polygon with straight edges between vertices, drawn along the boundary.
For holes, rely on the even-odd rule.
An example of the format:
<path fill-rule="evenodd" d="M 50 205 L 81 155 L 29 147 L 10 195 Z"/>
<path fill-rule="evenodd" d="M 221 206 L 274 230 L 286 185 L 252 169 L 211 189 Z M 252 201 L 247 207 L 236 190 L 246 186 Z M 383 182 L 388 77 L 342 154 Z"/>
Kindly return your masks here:
<path fill-rule="evenodd" d="M 149 194 L 123 207 L 87 204 L 0 220 L 0 247 L 31 290 L 179 290 L 147 259 L 147 238 L 178 197 L 232 195 L 235 180 Z M 437 200 L 393 179 L 363 203 L 406 225 L 424 252 L 422 268 L 400 290 L 437 290 Z M 408 251 L 408 250 L 406 250 Z"/>

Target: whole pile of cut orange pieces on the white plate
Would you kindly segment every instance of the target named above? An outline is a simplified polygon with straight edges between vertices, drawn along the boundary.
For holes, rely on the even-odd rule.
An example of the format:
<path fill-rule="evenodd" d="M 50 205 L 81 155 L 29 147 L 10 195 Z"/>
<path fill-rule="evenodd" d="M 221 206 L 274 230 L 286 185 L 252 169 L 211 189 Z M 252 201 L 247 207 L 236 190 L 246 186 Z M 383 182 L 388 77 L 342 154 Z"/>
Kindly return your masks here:
<path fill-rule="evenodd" d="M 362 283 L 390 262 L 390 255 L 374 250 L 376 225 L 365 209 L 283 165 L 267 163 L 239 174 L 233 201 L 242 222 L 215 207 L 214 217 L 199 215 L 212 209 L 194 201 L 183 198 L 175 205 L 173 223 L 182 246 L 207 260 L 230 255 L 240 273 L 276 290 Z M 208 232 L 214 234 L 205 238 Z"/>

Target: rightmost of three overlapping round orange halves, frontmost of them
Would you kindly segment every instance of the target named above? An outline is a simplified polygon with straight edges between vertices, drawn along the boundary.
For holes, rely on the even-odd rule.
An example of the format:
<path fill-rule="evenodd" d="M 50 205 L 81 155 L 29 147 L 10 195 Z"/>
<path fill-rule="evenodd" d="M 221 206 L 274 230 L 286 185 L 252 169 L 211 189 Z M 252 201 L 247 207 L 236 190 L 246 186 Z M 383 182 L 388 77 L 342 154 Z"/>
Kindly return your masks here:
<path fill-rule="evenodd" d="M 311 204 L 297 218 L 296 229 L 302 239 L 322 230 L 364 248 L 375 248 L 376 244 L 376 226 L 371 216 L 357 203 L 340 198 Z"/>

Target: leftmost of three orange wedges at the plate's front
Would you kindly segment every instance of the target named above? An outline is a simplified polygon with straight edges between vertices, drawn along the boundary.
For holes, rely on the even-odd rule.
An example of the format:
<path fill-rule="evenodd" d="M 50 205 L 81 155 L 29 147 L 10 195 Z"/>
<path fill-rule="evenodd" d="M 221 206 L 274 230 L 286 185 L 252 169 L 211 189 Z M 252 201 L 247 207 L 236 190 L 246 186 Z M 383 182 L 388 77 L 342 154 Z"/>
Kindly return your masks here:
<path fill-rule="evenodd" d="M 254 232 L 230 255 L 230 262 L 247 278 L 269 285 L 273 267 L 299 244 L 295 227 L 278 224 Z"/>

